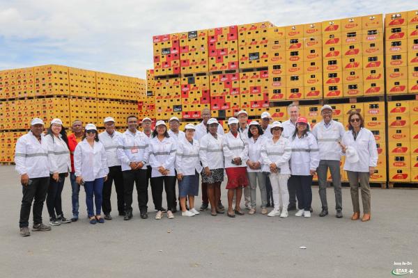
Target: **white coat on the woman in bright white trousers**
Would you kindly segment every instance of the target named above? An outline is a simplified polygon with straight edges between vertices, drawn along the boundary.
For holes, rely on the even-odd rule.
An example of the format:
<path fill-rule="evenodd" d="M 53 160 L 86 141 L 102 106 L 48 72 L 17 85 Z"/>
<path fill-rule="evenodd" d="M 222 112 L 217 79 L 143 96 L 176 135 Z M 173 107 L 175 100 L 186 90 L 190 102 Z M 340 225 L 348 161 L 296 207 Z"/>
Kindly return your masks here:
<path fill-rule="evenodd" d="M 270 164 L 274 163 L 280 168 L 279 174 L 291 174 L 289 168 L 289 160 L 292 156 L 291 142 L 280 136 L 279 140 L 274 143 L 273 138 L 263 141 L 261 148 L 261 158 L 263 161 L 263 172 L 270 172 Z"/>

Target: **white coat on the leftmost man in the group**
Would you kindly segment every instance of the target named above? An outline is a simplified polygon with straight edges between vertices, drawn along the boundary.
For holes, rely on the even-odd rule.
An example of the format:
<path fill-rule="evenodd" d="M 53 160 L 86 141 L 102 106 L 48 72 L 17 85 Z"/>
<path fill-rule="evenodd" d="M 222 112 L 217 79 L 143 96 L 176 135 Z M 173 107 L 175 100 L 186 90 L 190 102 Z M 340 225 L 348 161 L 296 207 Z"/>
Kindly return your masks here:
<path fill-rule="evenodd" d="M 49 177 L 48 147 L 45 136 L 39 140 L 32 131 L 17 139 L 15 149 L 15 169 L 22 174 L 28 174 L 29 179 Z"/>

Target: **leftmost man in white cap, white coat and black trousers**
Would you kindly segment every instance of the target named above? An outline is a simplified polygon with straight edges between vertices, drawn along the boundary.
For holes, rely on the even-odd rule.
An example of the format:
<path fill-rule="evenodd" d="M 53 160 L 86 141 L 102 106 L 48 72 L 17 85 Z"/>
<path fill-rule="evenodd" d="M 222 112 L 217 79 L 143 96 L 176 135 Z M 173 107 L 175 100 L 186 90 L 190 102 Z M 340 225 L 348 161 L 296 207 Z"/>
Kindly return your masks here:
<path fill-rule="evenodd" d="M 20 234 L 30 236 L 29 215 L 33 202 L 32 231 L 49 231 L 51 227 L 42 223 L 42 208 L 49 186 L 48 148 L 42 134 L 44 122 L 39 118 L 31 121 L 31 131 L 17 139 L 15 148 L 15 169 L 22 184 L 22 205 L 20 206 Z"/>

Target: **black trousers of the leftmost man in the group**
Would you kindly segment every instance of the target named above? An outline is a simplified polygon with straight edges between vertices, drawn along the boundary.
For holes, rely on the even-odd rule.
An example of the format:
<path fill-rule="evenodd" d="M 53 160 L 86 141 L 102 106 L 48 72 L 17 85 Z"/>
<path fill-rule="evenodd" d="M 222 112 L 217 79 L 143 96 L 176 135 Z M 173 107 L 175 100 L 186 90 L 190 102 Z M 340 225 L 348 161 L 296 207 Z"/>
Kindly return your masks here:
<path fill-rule="evenodd" d="M 49 186 L 49 177 L 29 179 L 27 186 L 22 186 L 22 205 L 20 206 L 19 227 L 29 226 L 29 215 L 33 202 L 33 224 L 42 223 L 42 208 Z M 34 201 L 33 201 L 34 200 Z"/>

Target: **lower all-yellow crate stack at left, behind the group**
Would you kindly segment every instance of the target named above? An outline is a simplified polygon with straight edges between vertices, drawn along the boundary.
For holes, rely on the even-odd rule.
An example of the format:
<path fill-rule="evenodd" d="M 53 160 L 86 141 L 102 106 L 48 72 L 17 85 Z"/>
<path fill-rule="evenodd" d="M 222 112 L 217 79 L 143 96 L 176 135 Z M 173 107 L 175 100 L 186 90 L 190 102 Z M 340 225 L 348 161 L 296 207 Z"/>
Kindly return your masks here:
<path fill-rule="evenodd" d="M 82 120 L 102 129 L 111 115 L 125 126 L 145 90 L 141 79 L 62 65 L 0 71 L 0 162 L 13 162 L 15 142 L 33 117 L 42 118 L 45 127 L 59 117 L 65 127 Z"/>

